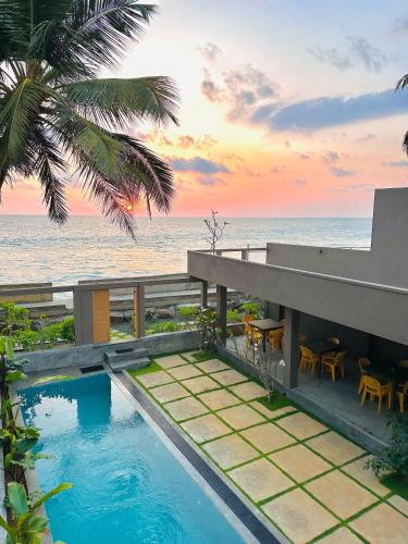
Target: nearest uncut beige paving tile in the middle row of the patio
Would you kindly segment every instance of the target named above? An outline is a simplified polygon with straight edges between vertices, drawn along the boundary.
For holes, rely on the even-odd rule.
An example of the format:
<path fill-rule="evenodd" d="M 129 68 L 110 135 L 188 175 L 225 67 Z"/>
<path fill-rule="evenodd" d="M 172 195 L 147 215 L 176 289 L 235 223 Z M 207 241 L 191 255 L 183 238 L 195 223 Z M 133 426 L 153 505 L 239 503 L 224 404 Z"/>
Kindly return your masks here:
<path fill-rule="evenodd" d="M 354 516 L 378 500 L 372 493 L 339 470 L 329 472 L 305 487 L 342 519 Z"/>

